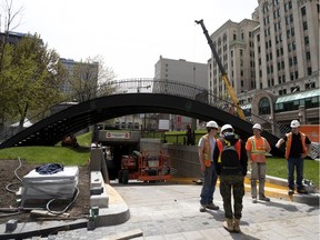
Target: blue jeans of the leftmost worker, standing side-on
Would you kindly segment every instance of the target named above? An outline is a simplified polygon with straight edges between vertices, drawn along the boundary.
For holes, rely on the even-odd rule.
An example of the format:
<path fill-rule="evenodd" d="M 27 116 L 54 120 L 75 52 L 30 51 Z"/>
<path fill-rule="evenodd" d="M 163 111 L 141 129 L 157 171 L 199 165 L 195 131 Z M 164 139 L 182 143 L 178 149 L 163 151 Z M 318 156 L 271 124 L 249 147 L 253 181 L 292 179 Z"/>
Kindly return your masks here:
<path fill-rule="evenodd" d="M 213 192 L 216 190 L 217 179 L 218 176 L 213 162 L 211 162 L 211 167 L 206 168 L 204 170 L 200 204 L 210 204 L 213 202 Z"/>

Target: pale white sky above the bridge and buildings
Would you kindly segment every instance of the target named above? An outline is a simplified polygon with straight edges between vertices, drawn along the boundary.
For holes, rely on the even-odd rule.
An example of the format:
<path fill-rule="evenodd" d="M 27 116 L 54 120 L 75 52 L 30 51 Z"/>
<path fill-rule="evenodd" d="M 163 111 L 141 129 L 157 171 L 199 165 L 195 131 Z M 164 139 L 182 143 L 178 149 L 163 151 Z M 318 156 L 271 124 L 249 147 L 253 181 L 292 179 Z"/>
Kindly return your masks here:
<path fill-rule="evenodd" d="M 251 19 L 258 7 L 258 0 L 12 1 L 13 10 L 22 7 L 13 31 L 37 32 L 61 58 L 101 56 L 119 80 L 153 78 L 160 56 L 207 63 L 211 50 L 194 20 L 212 34 L 229 19 Z"/>

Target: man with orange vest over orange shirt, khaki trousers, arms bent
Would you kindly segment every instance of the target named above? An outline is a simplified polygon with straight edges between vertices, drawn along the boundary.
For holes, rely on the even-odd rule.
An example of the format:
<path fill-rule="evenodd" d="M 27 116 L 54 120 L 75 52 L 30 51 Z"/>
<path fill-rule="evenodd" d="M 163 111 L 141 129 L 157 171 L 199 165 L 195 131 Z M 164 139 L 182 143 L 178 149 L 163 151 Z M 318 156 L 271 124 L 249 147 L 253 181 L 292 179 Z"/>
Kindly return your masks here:
<path fill-rule="evenodd" d="M 253 136 L 246 142 L 248 160 L 251 166 L 251 197 L 252 202 L 257 203 L 257 180 L 259 180 L 259 200 L 270 201 L 264 196 L 264 181 L 267 172 L 266 153 L 271 151 L 270 144 L 266 138 L 261 136 L 262 127 L 259 123 L 252 127 Z"/>

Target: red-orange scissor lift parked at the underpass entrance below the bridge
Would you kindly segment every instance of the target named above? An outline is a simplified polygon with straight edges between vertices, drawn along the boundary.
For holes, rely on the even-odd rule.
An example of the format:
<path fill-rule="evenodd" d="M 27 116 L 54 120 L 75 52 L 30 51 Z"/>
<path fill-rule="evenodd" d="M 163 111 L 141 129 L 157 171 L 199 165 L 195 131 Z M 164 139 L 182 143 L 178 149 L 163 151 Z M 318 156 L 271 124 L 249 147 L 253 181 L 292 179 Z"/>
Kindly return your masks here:
<path fill-rule="evenodd" d="M 148 156 L 133 151 L 130 156 L 121 157 L 121 170 L 118 179 L 120 183 L 128 183 L 130 179 L 140 181 L 166 181 L 171 179 L 171 162 L 168 156 L 160 152 L 158 156 Z"/>

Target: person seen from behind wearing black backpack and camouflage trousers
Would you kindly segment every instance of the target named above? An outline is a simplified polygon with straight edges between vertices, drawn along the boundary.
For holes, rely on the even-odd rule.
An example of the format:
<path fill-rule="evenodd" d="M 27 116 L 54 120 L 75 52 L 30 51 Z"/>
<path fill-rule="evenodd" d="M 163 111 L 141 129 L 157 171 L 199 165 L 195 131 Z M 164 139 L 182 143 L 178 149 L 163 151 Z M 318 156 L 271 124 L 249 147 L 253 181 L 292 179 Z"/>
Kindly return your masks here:
<path fill-rule="evenodd" d="M 222 126 L 221 136 L 221 138 L 217 139 L 217 151 L 213 153 L 213 162 L 220 178 L 220 193 L 226 217 L 223 228 L 230 232 L 240 232 L 248 156 L 244 142 L 236 138 L 231 124 Z M 231 204 L 232 189 L 233 212 Z"/>

